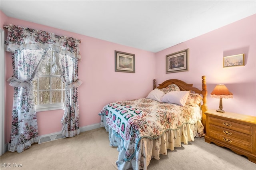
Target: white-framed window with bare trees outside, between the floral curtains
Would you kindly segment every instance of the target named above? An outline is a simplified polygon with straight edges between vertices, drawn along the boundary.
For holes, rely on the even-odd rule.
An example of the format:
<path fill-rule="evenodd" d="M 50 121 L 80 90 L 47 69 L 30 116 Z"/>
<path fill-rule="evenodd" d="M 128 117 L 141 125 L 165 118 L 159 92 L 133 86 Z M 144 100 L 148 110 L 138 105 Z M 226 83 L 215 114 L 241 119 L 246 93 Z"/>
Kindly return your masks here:
<path fill-rule="evenodd" d="M 56 64 L 54 51 L 48 50 L 51 50 L 52 55 L 42 68 L 42 75 L 33 81 L 36 111 L 62 109 L 65 99 L 64 83 Z"/>

